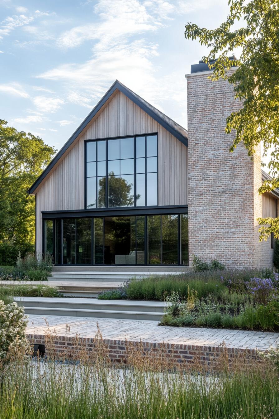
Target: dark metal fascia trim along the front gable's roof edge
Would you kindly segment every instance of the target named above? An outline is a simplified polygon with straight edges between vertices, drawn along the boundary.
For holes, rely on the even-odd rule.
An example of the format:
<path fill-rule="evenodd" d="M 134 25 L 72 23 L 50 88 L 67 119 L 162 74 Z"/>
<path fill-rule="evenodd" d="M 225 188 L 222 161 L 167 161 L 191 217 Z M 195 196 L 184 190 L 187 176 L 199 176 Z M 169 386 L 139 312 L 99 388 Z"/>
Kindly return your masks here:
<path fill-rule="evenodd" d="M 184 137 L 180 132 L 178 132 L 174 127 L 171 127 L 166 121 L 164 121 L 156 112 L 152 111 L 152 109 L 148 108 L 143 102 L 141 102 L 138 98 L 136 93 L 128 89 L 125 85 L 120 83 L 118 80 L 115 80 L 113 85 L 108 89 L 107 93 L 100 99 L 97 105 L 92 109 L 90 114 L 84 119 L 84 121 L 79 125 L 79 127 L 75 130 L 75 132 L 71 135 L 69 140 L 64 144 L 64 146 L 59 150 L 59 152 L 55 155 L 55 157 L 51 160 L 49 165 L 44 169 L 41 175 L 36 179 L 33 185 L 28 189 L 28 193 L 32 194 L 35 189 L 39 186 L 41 181 L 46 177 L 46 175 L 51 171 L 54 165 L 58 162 L 58 160 L 62 157 L 62 155 L 67 151 L 70 145 L 74 142 L 74 140 L 79 136 L 82 130 L 86 127 L 86 125 L 91 121 L 92 118 L 97 114 L 98 111 L 104 106 L 105 102 L 110 98 L 110 96 L 118 89 L 122 93 L 125 94 L 131 101 L 136 103 L 143 111 L 145 111 L 148 115 L 150 115 L 155 121 L 159 122 L 162 127 L 164 127 L 167 131 L 174 135 L 178 140 L 180 140 L 184 145 L 188 147 L 188 139 Z M 144 99 L 143 99 L 144 101 Z M 146 102 L 148 103 L 148 102 Z M 154 106 L 150 105 L 154 108 Z M 156 108 L 154 108 L 156 109 Z M 183 128 L 183 127 L 182 127 Z"/>

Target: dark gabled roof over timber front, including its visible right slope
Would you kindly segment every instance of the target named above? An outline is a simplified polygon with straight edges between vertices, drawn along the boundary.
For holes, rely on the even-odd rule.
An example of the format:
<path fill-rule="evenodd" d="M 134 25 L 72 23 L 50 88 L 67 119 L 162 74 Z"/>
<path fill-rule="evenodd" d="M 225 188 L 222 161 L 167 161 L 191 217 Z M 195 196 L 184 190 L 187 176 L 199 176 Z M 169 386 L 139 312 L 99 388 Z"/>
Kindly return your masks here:
<path fill-rule="evenodd" d="M 146 102 L 141 96 L 138 96 L 136 93 L 131 91 L 131 89 L 128 89 L 128 87 L 124 86 L 120 81 L 115 80 L 113 85 L 109 88 L 107 93 L 102 97 L 100 102 L 97 103 L 95 108 L 90 112 L 90 114 L 84 119 L 84 121 L 79 125 L 79 127 L 76 129 L 74 134 L 69 138 L 69 140 L 64 144 L 64 146 L 61 148 L 61 150 L 56 154 L 53 160 L 49 163 L 49 165 L 45 168 L 41 176 L 38 177 L 38 179 L 33 183 L 30 189 L 28 189 L 29 194 L 33 194 L 35 189 L 38 187 L 38 185 L 41 183 L 41 181 L 46 177 L 46 175 L 51 171 L 51 169 L 54 167 L 54 165 L 58 162 L 58 160 L 62 157 L 62 155 L 67 151 L 67 149 L 70 147 L 70 145 L 76 140 L 76 138 L 79 136 L 79 134 L 83 131 L 83 129 L 89 124 L 92 118 L 97 114 L 97 112 L 100 111 L 102 106 L 105 105 L 105 103 L 109 100 L 110 96 L 113 95 L 113 93 L 119 90 L 122 92 L 125 96 L 127 96 L 131 101 L 136 103 L 144 112 L 146 112 L 149 116 L 151 116 L 155 121 L 157 121 L 162 127 L 164 127 L 167 131 L 169 131 L 171 134 L 174 135 L 178 140 L 180 140 L 184 145 L 188 146 L 188 133 L 187 129 L 181 127 L 181 125 L 174 122 L 169 116 L 166 116 L 163 114 L 163 112 L 159 111 L 159 109 L 156 109 L 154 106 L 152 106 L 150 103 Z M 137 134 L 137 133 L 135 133 Z"/>

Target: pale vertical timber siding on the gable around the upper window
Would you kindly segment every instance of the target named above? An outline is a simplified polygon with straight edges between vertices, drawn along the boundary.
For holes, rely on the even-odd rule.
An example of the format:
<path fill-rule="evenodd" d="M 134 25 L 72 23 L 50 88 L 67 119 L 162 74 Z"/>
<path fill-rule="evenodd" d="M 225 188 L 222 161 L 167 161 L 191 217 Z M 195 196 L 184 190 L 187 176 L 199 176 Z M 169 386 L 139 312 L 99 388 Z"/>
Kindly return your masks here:
<path fill-rule="evenodd" d="M 84 209 L 84 140 L 152 132 L 158 132 L 158 203 L 187 204 L 187 147 L 118 91 L 35 191 L 38 252 L 41 211 Z"/>

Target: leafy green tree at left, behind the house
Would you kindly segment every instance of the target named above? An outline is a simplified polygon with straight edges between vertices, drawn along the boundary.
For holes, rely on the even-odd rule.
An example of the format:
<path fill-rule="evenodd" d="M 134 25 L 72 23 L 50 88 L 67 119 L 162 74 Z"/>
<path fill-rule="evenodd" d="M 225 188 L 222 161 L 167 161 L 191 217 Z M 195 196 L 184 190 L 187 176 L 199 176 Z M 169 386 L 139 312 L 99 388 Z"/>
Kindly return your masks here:
<path fill-rule="evenodd" d="M 0 120 L 0 264 L 33 250 L 35 199 L 27 189 L 56 152 L 40 137 L 7 124 Z"/>

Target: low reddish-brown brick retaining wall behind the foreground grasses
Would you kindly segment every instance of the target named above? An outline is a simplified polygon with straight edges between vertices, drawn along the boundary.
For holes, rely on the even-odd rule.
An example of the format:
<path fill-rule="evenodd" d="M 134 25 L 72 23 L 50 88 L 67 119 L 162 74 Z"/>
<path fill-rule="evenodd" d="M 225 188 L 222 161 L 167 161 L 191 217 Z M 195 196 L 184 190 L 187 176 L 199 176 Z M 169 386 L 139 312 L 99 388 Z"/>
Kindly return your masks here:
<path fill-rule="evenodd" d="M 45 335 L 28 335 L 32 344 L 46 344 L 51 357 L 59 360 L 77 360 L 94 354 L 108 357 L 114 363 L 133 363 L 138 357 L 145 357 L 147 365 L 169 365 L 172 367 L 198 367 L 204 370 L 218 369 L 224 365 L 233 366 L 233 362 L 261 362 L 255 349 L 238 349 L 235 347 L 171 344 L 159 342 L 143 342 L 113 339 L 82 338 L 75 336 L 55 336 L 51 342 Z M 46 352 L 46 355 L 48 353 Z M 91 355 L 91 356 L 90 356 Z"/>

